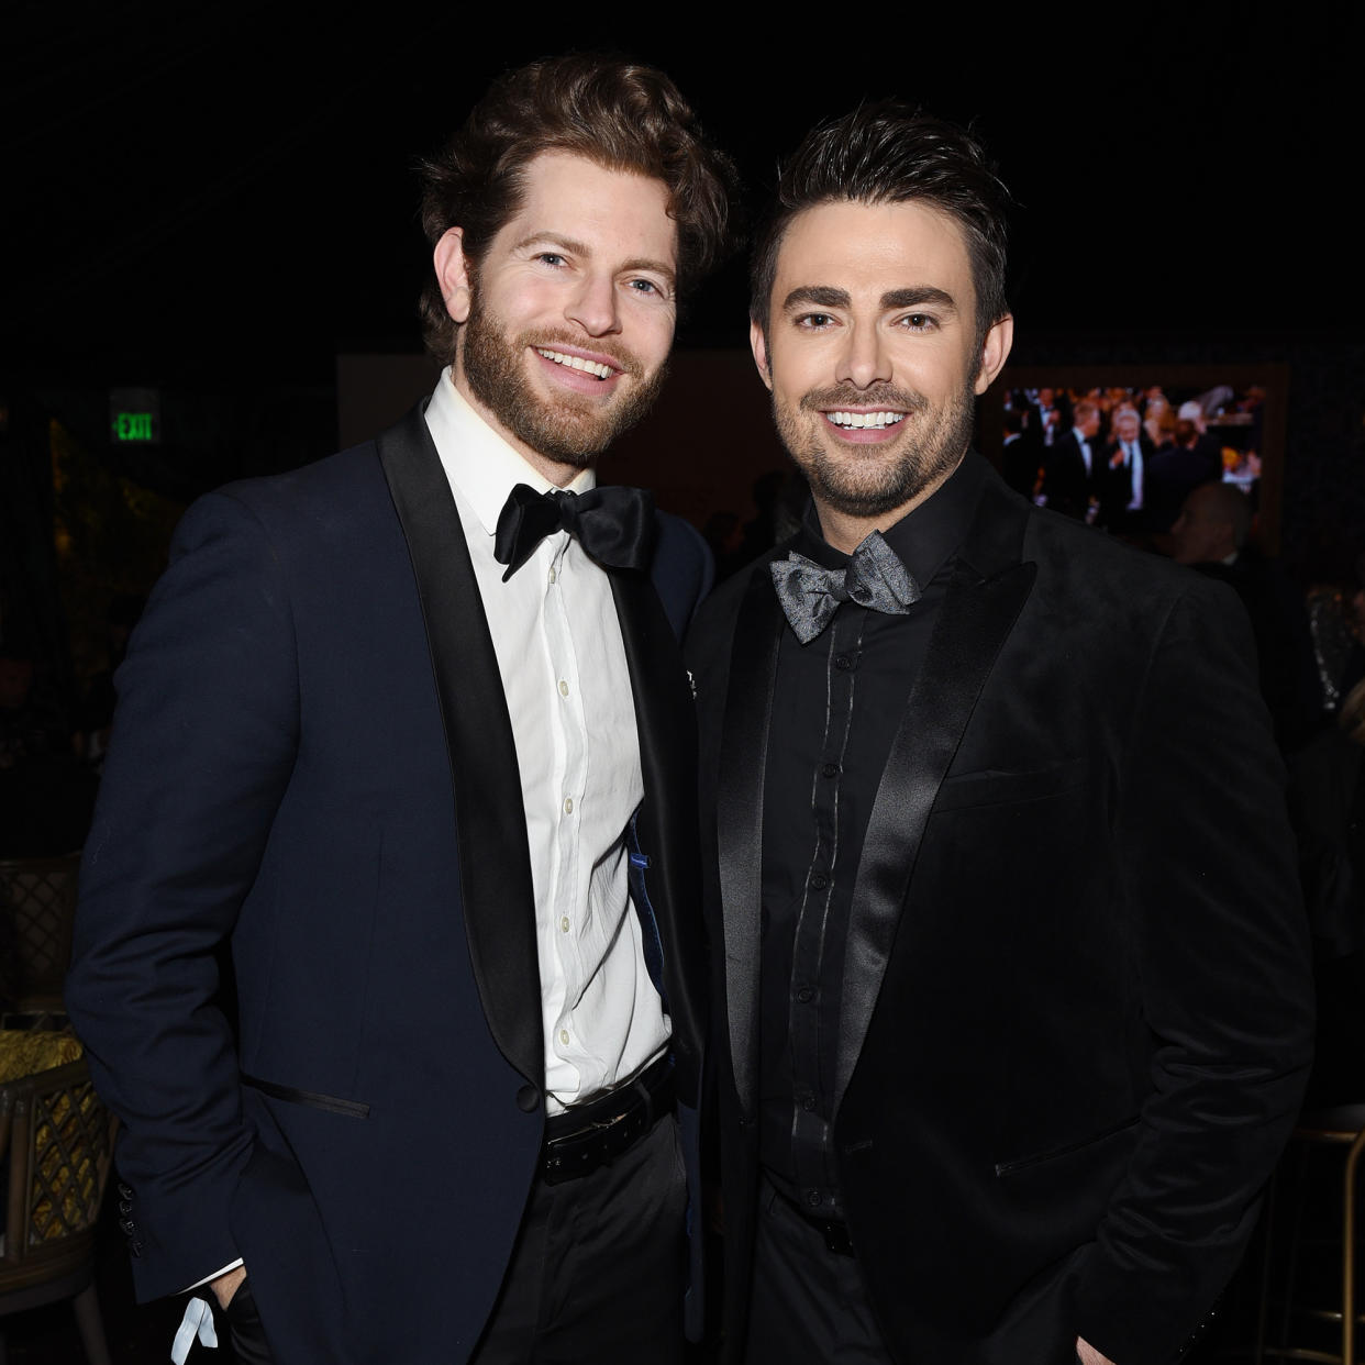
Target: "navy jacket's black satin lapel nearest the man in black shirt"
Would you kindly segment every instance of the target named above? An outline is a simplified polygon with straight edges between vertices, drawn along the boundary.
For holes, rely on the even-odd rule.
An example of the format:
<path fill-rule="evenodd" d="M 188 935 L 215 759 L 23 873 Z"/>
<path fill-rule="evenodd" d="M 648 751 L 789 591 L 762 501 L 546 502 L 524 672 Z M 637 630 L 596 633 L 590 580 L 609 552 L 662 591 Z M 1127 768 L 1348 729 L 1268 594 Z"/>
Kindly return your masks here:
<path fill-rule="evenodd" d="M 663 945 L 674 1055 L 695 1085 L 706 1036 L 700 849 L 696 816 L 696 711 L 687 667 L 658 594 L 643 573 L 609 571 L 635 692 L 644 804 L 640 848 L 650 856 L 650 904 Z M 680 1074 L 680 1081 L 682 1074 Z"/>

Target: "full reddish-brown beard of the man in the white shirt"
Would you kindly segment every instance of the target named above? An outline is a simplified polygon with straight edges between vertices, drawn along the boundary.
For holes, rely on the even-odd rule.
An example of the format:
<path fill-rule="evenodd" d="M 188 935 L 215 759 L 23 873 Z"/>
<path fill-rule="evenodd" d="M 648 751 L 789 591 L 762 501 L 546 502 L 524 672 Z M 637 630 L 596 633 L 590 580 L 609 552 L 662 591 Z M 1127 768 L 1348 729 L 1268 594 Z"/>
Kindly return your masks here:
<path fill-rule="evenodd" d="M 667 366 L 646 374 L 629 351 L 594 339 L 592 349 L 609 356 L 631 381 L 624 392 L 606 400 L 584 393 L 557 393 L 546 399 L 527 374 L 530 347 L 581 345 L 583 337 L 568 332 L 523 332 L 509 337 L 506 328 L 479 306 L 478 289 L 470 304 L 460 343 L 460 370 L 470 392 L 519 441 L 556 464 L 581 470 L 654 405 Z M 621 381 L 617 381 L 618 384 Z"/>

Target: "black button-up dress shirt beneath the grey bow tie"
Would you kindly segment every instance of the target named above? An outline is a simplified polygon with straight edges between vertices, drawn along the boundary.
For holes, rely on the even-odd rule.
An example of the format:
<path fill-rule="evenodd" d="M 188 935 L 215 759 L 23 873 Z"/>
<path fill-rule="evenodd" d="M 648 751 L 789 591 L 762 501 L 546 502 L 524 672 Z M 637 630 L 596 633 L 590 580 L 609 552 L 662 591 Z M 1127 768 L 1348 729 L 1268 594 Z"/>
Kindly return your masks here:
<path fill-rule="evenodd" d="M 971 527 L 984 463 L 951 478 L 885 532 L 924 595 L 905 616 L 844 602 L 808 644 L 784 632 L 763 790 L 759 1153 L 774 1185 L 841 1220 L 833 1145 L 845 939 L 863 838 L 910 688 Z M 808 517 L 793 549 L 848 556 Z"/>

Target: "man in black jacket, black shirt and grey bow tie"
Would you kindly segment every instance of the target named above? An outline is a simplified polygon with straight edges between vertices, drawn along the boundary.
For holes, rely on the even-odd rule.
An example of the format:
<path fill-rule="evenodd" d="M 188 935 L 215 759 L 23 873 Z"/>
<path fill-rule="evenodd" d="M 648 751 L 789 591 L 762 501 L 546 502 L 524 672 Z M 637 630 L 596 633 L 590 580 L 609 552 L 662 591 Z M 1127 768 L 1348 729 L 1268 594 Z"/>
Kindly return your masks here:
<path fill-rule="evenodd" d="M 1235 601 L 971 450 L 1005 202 L 961 130 L 868 104 L 758 238 L 753 355 L 814 508 L 688 642 L 751 1362 L 1177 1360 L 1306 1074 Z"/>

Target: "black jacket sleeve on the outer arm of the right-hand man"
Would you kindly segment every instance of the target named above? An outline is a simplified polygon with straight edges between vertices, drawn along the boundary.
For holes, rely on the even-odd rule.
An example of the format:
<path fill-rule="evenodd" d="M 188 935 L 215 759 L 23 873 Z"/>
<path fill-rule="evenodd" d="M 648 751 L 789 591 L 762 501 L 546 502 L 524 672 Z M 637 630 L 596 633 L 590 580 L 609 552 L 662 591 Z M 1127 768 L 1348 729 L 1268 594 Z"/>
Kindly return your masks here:
<path fill-rule="evenodd" d="M 1119 815 L 1152 1037 L 1138 1145 L 1074 1280 L 1118 1365 L 1178 1358 L 1227 1283 L 1312 1058 L 1306 923 L 1245 618 L 1193 584 L 1144 687 Z"/>

